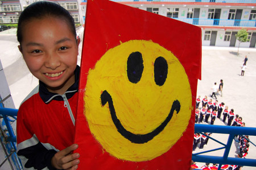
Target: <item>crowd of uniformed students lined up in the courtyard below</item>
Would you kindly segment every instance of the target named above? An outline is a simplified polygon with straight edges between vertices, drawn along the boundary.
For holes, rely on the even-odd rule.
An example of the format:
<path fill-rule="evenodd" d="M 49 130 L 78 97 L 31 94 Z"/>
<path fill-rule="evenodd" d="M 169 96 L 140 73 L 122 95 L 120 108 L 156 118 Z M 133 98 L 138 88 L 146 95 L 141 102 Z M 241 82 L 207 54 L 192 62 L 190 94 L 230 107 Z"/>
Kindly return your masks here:
<path fill-rule="evenodd" d="M 200 106 L 201 103 L 201 107 Z M 224 109 L 225 108 L 225 109 Z M 214 121 L 216 118 L 221 119 L 222 115 L 222 122 L 225 125 L 228 126 L 245 126 L 245 122 L 242 122 L 242 117 L 240 117 L 238 114 L 234 114 L 234 109 L 228 108 L 228 106 L 225 106 L 224 102 L 218 103 L 218 100 L 216 99 L 214 103 L 212 102 L 212 99 L 207 99 L 207 96 L 205 96 L 202 100 L 200 99 L 200 96 L 196 99 L 196 118 L 195 123 L 209 123 L 210 125 L 214 125 Z M 226 122 L 227 121 L 227 122 Z M 196 148 L 199 147 L 200 150 L 203 150 L 204 146 L 207 145 L 209 137 L 212 135 L 211 133 L 195 133 L 194 134 L 194 142 L 193 142 L 193 152 L 195 152 Z M 238 146 L 238 155 L 237 157 L 246 158 L 249 150 L 249 136 L 245 135 L 237 135 L 236 142 L 240 143 L 240 146 Z M 194 169 L 199 169 L 199 167 L 194 163 L 191 165 Z M 222 165 L 222 170 L 240 170 L 242 167 L 240 165 Z M 212 164 L 210 166 L 209 163 L 205 163 L 203 167 L 200 169 L 218 169 L 217 164 Z"/>

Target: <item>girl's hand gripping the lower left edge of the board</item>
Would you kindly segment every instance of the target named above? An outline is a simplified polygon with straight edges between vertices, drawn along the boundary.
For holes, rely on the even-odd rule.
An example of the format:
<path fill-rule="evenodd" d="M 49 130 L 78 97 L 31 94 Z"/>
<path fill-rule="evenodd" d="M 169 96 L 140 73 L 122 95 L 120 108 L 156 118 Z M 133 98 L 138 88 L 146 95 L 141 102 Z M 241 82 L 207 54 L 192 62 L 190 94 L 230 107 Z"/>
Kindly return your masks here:
<path fill-rule="evenodd" d="M 72 154 L 72 151 L 75 151 L 77 148 L 77 144 L 72 144 L 64 150 L 57 152 L 52 157 L 52 167 L 56 169 L 77 169 L 80 155 L 78 153 Z"/>

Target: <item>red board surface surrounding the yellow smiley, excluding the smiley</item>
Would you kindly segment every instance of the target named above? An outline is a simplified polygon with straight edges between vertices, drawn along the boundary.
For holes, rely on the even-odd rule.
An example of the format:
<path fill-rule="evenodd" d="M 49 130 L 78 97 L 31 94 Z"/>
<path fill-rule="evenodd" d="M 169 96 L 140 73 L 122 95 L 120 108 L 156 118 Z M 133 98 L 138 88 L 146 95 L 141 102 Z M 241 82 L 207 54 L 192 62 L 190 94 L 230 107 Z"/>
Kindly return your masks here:
<path fill-rule="evenodd" d="M 197 79 L 201 79 L 201 28 L 120 3 L 89 0 L 75 134 L 75 143 L 79 144 L 76 150 L 80 154 L 79 169 L 189 169 L 195 125 L 194 108 L 183 136 L 169 151 L 150 161 L 133 162 L 110 156 L 89 130 L 84 116 L 87 73 L 108 49 L 129 40 L 152 40 L 174 53 L 188 75 L 192 106 L 195 106 Z"/>

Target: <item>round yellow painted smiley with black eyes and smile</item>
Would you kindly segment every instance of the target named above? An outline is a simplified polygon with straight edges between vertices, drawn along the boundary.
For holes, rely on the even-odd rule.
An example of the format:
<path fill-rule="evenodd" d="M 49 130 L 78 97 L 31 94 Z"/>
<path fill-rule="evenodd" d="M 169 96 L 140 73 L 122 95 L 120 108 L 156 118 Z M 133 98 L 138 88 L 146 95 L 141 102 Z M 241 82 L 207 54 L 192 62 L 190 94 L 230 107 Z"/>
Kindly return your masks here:
<path fill-rule="evenodd" d="M 109 49 L 88 72 L 85 117 L 94 138 L 117 159 L 152 160 L 181 138 L 191 88 L 179 60 L 151 41 Z"/>

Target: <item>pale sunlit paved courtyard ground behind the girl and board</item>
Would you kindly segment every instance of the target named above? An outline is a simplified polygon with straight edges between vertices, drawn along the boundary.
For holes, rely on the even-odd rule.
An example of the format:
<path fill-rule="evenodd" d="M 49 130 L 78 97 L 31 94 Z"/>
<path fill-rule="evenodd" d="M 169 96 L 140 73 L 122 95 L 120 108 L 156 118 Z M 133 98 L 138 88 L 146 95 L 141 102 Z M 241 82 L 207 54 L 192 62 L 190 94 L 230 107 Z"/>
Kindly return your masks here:
<path fill-rule="evenodd" d="M 27 94 L 37 84 L 38 80 L 28 71 L 22 56 L 18 51 L 18 42 L 16 42 L 15 29 L 0 32 L 0 59 L 10 86 L 11 94 L 16 108 Z M 79 32 L 80 34 L 80 32 Z M 82 36 L 81 36 L 82 37 Z M 248 56 L 247 69 L 245 76 L 241 77 L 241 65 L 245 55 Z M 237 48 L 229 47 L 203 47 L 202 57 L 202 80 L 199 80 L 197 96 L 201 99 L 212 93 L 214 82 L 220 83 L 224 80 L 223 96 L 217 96 L 218 102 L 224 102 L 229 109 L 234 109 L 235 114 L 239 114 L 247 127 L 256 127 L 255 108 L 256 104 L 256 49 L 240 48 L 240 55 L 237 56 Z M 81 57 L 79 56 L 79 61 Z M 213 100 L 214 101 L 214 100 Z M 215 125 L 224 125 L 219 119 Z M 213 138 L 220 139 L 226 143 L 227 135 L 213 134 Z M 256 136 L 250 139 L 256 144 Z M 234 142 L 229 156 L 236 157 L 236 145 Z M 220 144 L 209 140 L 208 146 L 204 148 L 209 150 L 221 147 Z M 197 148 L 196 152 L 199 152 Z M 250 145 L 247 158 L 256 159 L 256 147 Z M 223 151 L 212 152 L 211 155 L 221 156 Z M 198 163 L 203 165 L 203 163 Z M 243 170 L 256 169 L 256 167 L 243 167 Z"/>

